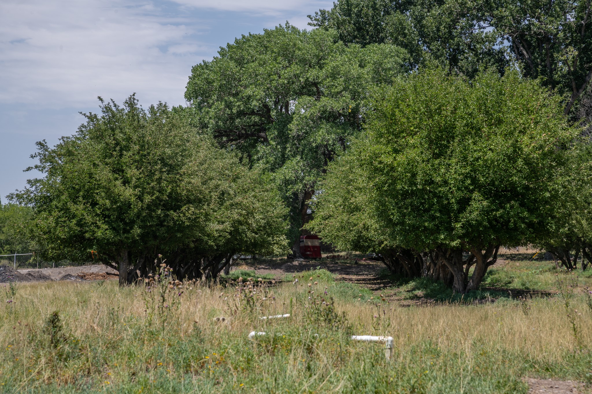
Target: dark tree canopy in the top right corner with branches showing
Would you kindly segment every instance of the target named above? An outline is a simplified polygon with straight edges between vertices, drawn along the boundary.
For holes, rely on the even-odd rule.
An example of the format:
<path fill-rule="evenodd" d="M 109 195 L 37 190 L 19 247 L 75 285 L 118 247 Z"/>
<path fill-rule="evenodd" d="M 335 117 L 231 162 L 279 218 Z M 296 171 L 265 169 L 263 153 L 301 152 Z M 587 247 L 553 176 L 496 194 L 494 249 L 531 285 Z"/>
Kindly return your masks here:
<path fill-rule="evenodd" d="M 510 43 L 523 74 L 567 96 L 565 114 L 592 77 L 592 4 L 589 0 L 504 0 L 487 15 Z"/>

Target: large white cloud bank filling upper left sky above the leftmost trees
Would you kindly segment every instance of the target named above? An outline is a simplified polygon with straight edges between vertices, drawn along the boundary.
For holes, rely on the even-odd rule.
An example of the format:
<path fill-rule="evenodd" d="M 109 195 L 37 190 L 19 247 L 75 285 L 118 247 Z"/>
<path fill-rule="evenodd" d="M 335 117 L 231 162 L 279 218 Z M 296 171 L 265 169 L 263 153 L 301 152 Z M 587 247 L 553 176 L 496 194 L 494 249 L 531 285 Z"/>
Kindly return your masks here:
<path fill-rule="evenodd" d="M 184 22 L 134 1 L 4 0 L 0 103 L 96 105 L 138 92 L 179 104 L 191 65 L 212 52 L 196 42 L 195 19 Z"/>

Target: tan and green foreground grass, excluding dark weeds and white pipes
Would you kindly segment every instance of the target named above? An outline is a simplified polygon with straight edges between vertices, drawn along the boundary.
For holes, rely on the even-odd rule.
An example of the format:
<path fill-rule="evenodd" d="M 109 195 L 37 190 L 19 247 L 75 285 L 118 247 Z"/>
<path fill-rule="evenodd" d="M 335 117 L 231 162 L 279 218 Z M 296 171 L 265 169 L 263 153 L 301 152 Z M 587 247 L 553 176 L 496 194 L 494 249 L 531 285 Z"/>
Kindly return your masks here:
<path fill-rule="evenodd" d="M 253 313 L 233 310 L 234 288 L 184 285 L 180 298 L 180 289 L 173 289 L 167 293 L 170 312 L 163 320 L 153 320 L 153 324 L 166 324 L 166 329 L 155 333 L 149 332 L 151 325 L 147 324 L 155 308 L 150 302 L 147 307 L 146 300 L 158 298 L 156 289 L 150 293 L 144 286 L 122 289 L 115 281 L 19 284 L 14 302 L 6 303 L 0 314 L 0 351 L 4 351 L 5 360 L 12 360 L 0 366 L 0 385 L 12 383 L 17 392 L 24 388 L 43 391 L 88 381 L 97 390 L 119 385 L 121 390 L 137 391 L 150 383 L 160 385 L 153 392 L 162 392 L 174 383 L 182 392 L 179 387 L 186 383 L 179 382 L 190 376 L 191 384 L 200 388 L 198 392 L 237 389 L 241 383 L 250 385 L 251 392 L 265 392 L 266 385 L 274 382 L 281 392 L 359 392 L 356 384 L 388 386 L 390 390 L 396 383 L 394 392 L 401 393 L 409 392 L 411 385 L 419 385 L 417 392 L 462 392 L 468 388 L 468 392 L 497 393 L 526 392 L 523 377 L 553 377 L 542 376 L 540 366 L 555 360 L 555 370 L 562 370 L 573 354 L 581 356 L 581 365 L 587 365 L 588 350 L 574 351 L 576 341 L 559 298 L 532 299 L 528 301 L 530 309 L 523 309 L 516 301 L 407 308 L 395 302 L 381 302 L 377 307 L 372 304 L 377 299 L 337 298 L 337 309 L 346 313 L 353 333 L 395 339 L 394 363 L 385 363 L 377 344 L 348 343 L 342 353 L 343 333 L 325 330 L 322 339 L 314 337 L 320 328 L 307 320 L 303 307 L 304 302 L 310 302 L 309 295 L 314 297 L 309 290 L 323 294 L 327 286 L 331 295 L 338 284 L 322 278 L 308 281 L 308 274 L 304 276 L 297 285 L 272 286 L 262 310 Z M 315 279 L 320 283 L 315 285 Z M 572 315 L 577 321 L 578 341 L 587 346 L 592 329 L 585 323 L 592 314 L 585 299 L 579 297 L 574 298 L 572 307 L 578 312 Z M 56 353 L 43 342 L 47 333 L 42 327 L 56 310 L 72 333 L 69 341 L 77 341 L 72 364 L 56 363 Z M 258 319 L 287 312 L 292 313 L 288 320 Z M 215 317 L 225 317 L 225 321 Z M 28 336 L 31 327 L 33 333 L 42 333 L 37 336 L 41 340 Z M 267 336 L 249 341 L 247 334 L 253 330 L 289 332 L 294 341 L 289 334 L 285 340 Z M 295 338 L 297 330 L 305 333 Z M 190 349 L 183 362 L 175 359 L 181 353 L 167 355 L 178 344 Z M 531 366 L 526 366 L 528 363 Z M 369 364 L 372 366 L 364 370 Z M 582 369 L 578 368 L 565 372 L 564 379 L 580 379 Z M 458 373 L 450 375 L 450 369 Z M 81 374 L 81 370 L 85 372 Z M 388 382 L 382 380 L 385 373 L 390 374 Z M 278 376 L 281 379 L 277 380 Z"/>

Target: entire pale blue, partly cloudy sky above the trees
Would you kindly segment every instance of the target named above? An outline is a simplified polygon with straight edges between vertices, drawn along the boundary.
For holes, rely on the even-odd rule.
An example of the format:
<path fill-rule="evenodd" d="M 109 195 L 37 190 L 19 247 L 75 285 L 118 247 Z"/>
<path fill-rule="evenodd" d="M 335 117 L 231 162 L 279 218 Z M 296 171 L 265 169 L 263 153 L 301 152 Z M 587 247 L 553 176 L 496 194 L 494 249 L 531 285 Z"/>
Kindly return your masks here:
<path fill-rule="evenodd" d="M 0 2 L 0 198 L 34 172 L 35 142 L 76 131 L 96 96 L 143 106 L 185 105 L 191 66 L 249 32 L 307 15 L 326 0 L 2 0 Z"/>

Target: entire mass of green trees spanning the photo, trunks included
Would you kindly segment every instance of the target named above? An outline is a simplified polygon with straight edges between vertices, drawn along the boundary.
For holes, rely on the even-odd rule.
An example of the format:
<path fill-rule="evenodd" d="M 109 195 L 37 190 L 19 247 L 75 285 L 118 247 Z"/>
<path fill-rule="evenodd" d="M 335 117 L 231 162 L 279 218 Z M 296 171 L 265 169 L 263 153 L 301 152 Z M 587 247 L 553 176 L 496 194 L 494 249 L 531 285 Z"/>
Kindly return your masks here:
<path fill-rule="evenodd" d="M 462 292 L 501 245 L 572 268 L 592 253 L 589 15 L 581 0 L 340 0 L 314 30 L 243 35 L 195 66 L 186 108 L 102 103 L 39 144 L 43 178 L 11 198 L 44 257 L 92 255 L 122 283 L 159 253 L 189 278 L 298 254 L 303 226 Z"/>

